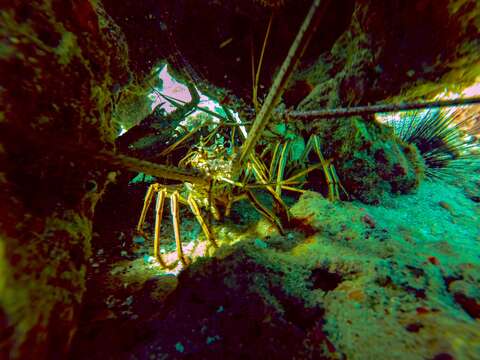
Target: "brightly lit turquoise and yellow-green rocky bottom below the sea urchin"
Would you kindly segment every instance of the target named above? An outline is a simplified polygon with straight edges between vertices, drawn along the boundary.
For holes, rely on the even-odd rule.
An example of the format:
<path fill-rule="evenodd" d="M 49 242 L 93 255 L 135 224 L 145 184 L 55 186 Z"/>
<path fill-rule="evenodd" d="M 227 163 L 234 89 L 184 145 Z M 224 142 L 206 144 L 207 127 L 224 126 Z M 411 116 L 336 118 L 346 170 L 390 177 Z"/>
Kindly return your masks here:
<path fill-rule="evenodd" d="M 445 197 L 468 221 L 441 211 Z M 332 204 L 307 192 L 292 208 L 312 234 L 292 255 L 318 257 L 312 292 L 323 290 L 323 330 L 349 359 L 476 359 L 479 222 L 469 200 L 431 182 L 400 199 Z"/>

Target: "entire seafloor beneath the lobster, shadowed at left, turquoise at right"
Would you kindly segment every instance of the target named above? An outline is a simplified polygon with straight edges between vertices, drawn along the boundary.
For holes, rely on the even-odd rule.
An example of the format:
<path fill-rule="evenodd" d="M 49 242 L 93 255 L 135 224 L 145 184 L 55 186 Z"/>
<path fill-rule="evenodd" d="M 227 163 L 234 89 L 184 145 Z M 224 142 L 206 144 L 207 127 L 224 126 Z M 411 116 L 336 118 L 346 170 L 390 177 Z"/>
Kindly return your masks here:
<path fill-rule="evenodd" d="M 307 192 L 285 236 L 239 205 L 178 277 L 100 207 L 72 358 L 480 359 L 479 189 L 477 169 L 379 206 Z"/>

